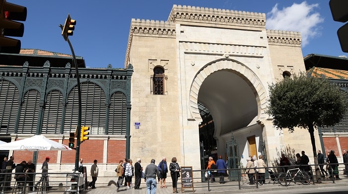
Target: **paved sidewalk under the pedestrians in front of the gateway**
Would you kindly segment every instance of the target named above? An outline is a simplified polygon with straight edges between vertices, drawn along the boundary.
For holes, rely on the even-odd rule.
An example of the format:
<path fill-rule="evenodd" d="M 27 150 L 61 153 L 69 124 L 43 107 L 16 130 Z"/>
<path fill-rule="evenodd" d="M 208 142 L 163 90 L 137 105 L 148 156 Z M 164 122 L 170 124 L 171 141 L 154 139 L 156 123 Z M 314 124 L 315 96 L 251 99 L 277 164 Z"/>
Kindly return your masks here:
<path fill-rule="evenodd" d="M 266 183 L 268 180 L 266 180 Z M 243 184 L 243 182 L 241 182 Z M 167 184 L 167 188 L 160 188 L 160 184 L 157 184 L 157 190 L 156 194 L 173 194 L 173 188 L 171 184 Z M 299 190 L 299 189 L 313 189 L 316 190 L 318 188 L 327 188 L 327 187 L 347 187 L 348 185 L 348 178 L 343 177 L 341 180 L 335 180 L 335 184 L 332 183 L 332 181 L 323 181 L 321 184 L 310 184 L 310 185 L 302 185 L 297 183 L 291 183 L 288 187 L 284 187 L 279 185 L 278 183 L 273 184 L 272 182 L 270 184 L 265 184 L 262 186 L 256 187 L 256 185 L 249 185 L 244 183 L 244 185 L 241 186 L 241 189 L 239 189 L 238 181 L 231 181 L 227 182 L 226 184 L 219 184 L 218 182 L 210 183 L 208 191 L 208 183 L 194 183 L 194 189 L 192 188 L 185 188 L 182 192 L 192 193 L 194 190 L 194 194 L 243 194 L 243 193 L 257 193 L 257 192 L 267 192 L 267 191 L 288 191 L 289 190 Z M 99 185 L 96 189 L 91 190 L 90 188 L 85 191 L 85 194 L 147 194 L 146 191 L 146 185 L 142 181 L 141 183 L 141 190 L 135 190 L 134 188 L 127 190 L 126 187 L 119 188 L 117 190 L 117 187 L 115 185 L 111 186 L 102 186 Z M 181 193 L 181 188 L 179 186 L 178 193 Z"/>

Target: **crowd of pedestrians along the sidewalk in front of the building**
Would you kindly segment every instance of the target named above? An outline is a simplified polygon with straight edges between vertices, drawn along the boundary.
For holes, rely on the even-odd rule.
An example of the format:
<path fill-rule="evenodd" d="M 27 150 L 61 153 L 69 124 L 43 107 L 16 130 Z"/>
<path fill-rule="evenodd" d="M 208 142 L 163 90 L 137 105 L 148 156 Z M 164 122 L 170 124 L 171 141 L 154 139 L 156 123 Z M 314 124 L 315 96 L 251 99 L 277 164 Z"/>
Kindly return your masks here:
<path fill-rule="evenodd" d="M 344 174 L 348 177 L 348 151 L 346 149 L 342 152 L 343 162 L 345 163 Z M 330 175 L 329 178 L 341 179 L 339 177 L 338 170 L 338 159 L 335 155 L 335 151 L 331 150 L 328 152 L 327 157 L 320 150 L 317 151 L 318 164 L 320 167 L 321 176 L 325 177 Z M 206 168 L 206 177 L 207 180 L 211 180 L 211 182 L 215 182 L 215 177 L 219 177 L 219 183 L 225 184 L 224 177 L 227 172 L 227 162 L 225 162 L 221 155 L 218 157 L 219 159 L 214 161 L 213 157 L 208 158 L 207 168 Z M 326 158 L 326 161 L 325 161 Z M 41 184 L 45 184 L 46 188 L 52 188 L 49 186 L 48 181 L 48 162 L 50 161 L 50 157 L 46 157 L 45 161 L 42 164 L 42 176 L 40 180 L 33 185 L 34 183 L 34 173 L 35 165 L 32 163 L 32 160 L 28 160 L 26 162 L 23 160 L 19 164 L 15 164 L 13 162 L 14 156 L 10 156 L 8 159 L 4 157 L 3 162 L 1 164 L 1 174 L 0 174 L 0 187 L 3 188 L 3 191 L 8 191 L 10 188 L 11 176 L 7 176 L 2 173 L 12 173 L 13 169 L 15 169 L 14 179 L 17 182 L 28 182 L 29 183 L 29 191 L 37 190 L 37 186 Z M 305 154 L 305 151 L 301 151 L 301 155 L 296 153 L 296 165 L 299 165 L 299 168 L 303 171 L 309 173 L 312 176 L 312 169 L 309 164 L 309 158 Z M 282 171 L 286 172 L 288 170 L 288 166 L 292 165 L 290 160 L 285 156 L 284 153 L 281 154 L 281 158 L 279 160 L 279 165 L 282 167 Z M 326 168 L 324 166 L 326 165 Z M 251 185 L 258 183 L 259 185 L 265 184 L 265 171 L 266 164 L 263 161 L 263 156 L 259 155 L 258 158 L 254 156 L 249 156 L 247 158 L 246 165 L 246 173 L 248 174 L 248 179 Z M 318 169 L 319 170 L 319 169 Z M 83 159 L 80 159 L 79 162 L 79 172 L 83 172 Z M 172 161 L 168 167 L 167 158 L 163 157 L 162 160 L 155 164 L 155 159 L 152 159 L 150 164 L 146 166 L 145 171 L 141 165 L 141 159 L 137 158 L 136 163 L 133 165 L 132 159 L 124 159 L 120 160 L 117 168 L 115 169 L 116 176 L 118 178 L 116 186 L 117 188 L 126 187 L 126 189 L 131 189 L 134 187 L 136 190 L 140 190 L 141 179 L 143 178 L 146 183 L 146 189 L 148 194 L 155 194 L 157 189 L 157 183 L 160 184 L 160 188 L 167 188 L 166 179 L 167 173 L 170 172 L 172 178 L 172 187 L 173 193 L 177 193 L 177 180 L 180 177 L 180 166 L 177 163 L 176 157 L 172 158 Z M 29 174 L 26 174 L 29 173 Z M 97 160 L 93 161 L 93 164 L 90 168 L 91 182 L 89 182 L 88 186 L 92 189 L 95 189 L 95 182 L 98 177 L 98 166 Z M 132 183 L 132 178 L 135 177 L 134 184 Z M 158 179 L 158 182 L 157 182 Z M 124 182 L 124 183 L 123 183 Z"/>

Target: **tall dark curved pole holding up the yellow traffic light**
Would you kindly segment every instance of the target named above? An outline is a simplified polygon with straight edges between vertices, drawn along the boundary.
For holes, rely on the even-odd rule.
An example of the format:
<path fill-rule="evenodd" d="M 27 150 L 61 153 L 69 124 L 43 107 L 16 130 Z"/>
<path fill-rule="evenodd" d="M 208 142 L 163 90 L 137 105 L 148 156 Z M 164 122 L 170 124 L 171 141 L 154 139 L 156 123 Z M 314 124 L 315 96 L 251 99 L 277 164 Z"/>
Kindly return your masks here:
<path fill-rule="evenodd" d="M 59 25 L 59 27 L 61 27 L 61 29 L 63 30 L 63 26 L 62 24 Z M 75 56 L 75 52 L 73 49 L 73 46 L 70 43 L 69 38 L 67 38 L 69 47 L 71 49 L 71 52 L 73 54 L 73 59 L 74 59 L 74 65 L 75 65 L 75 71 L 76 71 L 76 78 L 77 78 L 77 85 L 78 85 L 78 95 L 79 95 L 79 113 L 78 113 L 78 127 L 77 127 L 77 134 L 76 134 L 76 155 L 75 155 L 75 172 L 77 172 L 79 170 L 79 160 L 80 160 L 80 138 L 81 138 L 81 115 L 82 115 L 82 102 L 81 102 L 81 86 L 80 86 L 80 75 L 79 75 L 79 68 L 78 68 L 78 64 L 76 61 L 76 56 Z"/>

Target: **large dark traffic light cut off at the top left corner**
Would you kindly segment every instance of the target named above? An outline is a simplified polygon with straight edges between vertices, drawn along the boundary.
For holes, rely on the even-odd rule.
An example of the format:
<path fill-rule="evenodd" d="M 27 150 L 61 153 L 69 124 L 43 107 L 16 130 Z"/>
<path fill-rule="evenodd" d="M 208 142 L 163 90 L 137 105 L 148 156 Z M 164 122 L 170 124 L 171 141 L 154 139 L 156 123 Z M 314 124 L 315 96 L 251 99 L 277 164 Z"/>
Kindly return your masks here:
<path fill-rule="evenodd" d="M 20 40 L 8 38 L 23 37 L 26 20 L 26 7 L 0 0 L 0 52 L 19 53 Z"/>

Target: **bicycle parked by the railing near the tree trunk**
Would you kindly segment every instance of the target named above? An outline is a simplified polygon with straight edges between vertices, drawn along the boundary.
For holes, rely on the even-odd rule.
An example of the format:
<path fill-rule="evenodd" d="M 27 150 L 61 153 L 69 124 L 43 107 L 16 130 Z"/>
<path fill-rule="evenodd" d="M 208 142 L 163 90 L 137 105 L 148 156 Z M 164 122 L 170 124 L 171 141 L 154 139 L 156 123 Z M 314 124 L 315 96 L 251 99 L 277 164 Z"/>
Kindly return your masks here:
<path fill-rule="evenodd" d="M 295 173 L 290 172 L 290 171 L 296 171 L 296 170 L 297 170 L 297 172 L 295 172 Z M 299 168 L 287 170 L 286 173 L 281 172 L 281 173 L 279 173 L 279 176 L 278 176 L 279 184 L 282 186 L 288 186 L 288 185 L 290 185 L 290 182 L 292 182 L 292 181 L 294 181 L 294 183 L 300 182 L 303 185 L 309 185 L 309 183 L 310 183 L 309 180 L 310 180 L 310 178 L 309 178 L 308 173 L 300 170 Z"/>

